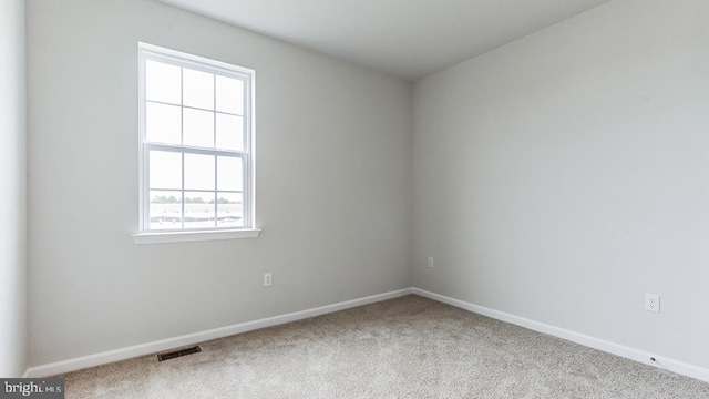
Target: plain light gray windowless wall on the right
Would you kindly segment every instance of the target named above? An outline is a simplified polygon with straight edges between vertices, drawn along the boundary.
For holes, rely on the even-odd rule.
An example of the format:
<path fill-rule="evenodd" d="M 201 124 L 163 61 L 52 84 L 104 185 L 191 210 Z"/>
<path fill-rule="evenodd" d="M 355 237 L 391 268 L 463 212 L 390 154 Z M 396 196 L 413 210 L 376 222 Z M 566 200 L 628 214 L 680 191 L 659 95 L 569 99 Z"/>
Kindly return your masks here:
<path fill-rule="evenodd" d="M 414 285 L 709 367 L 707 43 L 618 0 L 418 82 Z"/>

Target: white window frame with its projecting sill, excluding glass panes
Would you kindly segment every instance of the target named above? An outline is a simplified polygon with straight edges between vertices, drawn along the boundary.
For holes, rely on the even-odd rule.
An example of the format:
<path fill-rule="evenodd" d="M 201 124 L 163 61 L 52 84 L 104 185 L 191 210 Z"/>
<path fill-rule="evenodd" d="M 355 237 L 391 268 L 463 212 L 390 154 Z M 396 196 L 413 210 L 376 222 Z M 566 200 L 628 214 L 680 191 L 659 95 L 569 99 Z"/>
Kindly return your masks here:
<path fill-rule="evenodd" d="M 148 60 L 154 60 L 162 63 L 167 63 L 176 66 L 189 68 L 202 72 L 212 73 L 215 76 L 222 75 L 232 79 L 238 79 L 244 82 L 244 150 L 233 151 L 217 149 L 215 142 L 215 149 L 189 146 L 185 144 L 167 144 L 148 142 L 146 140 L 146 63 Z M 216 78 L 215 78 L 216 79 Z M 192 241 L 210 241 L 210 239 L 227 239 L 227 238 L 255 238 L 260 234 L 260 229 L 255 227 L 256 223 L 256 185 L 255 185 L 255 80 L 256 71 L 232 65 L 225 62 L 215 61 L 198 55 L 187 54 L 175 50 L 165 49 L 162 47 L 138 42 L 138 233 L 133 234 L 133 239 L 136 244 L 153 244 L 153 243 L 172 243 L 172 242 L 192 242 Z M 184 81 L 181 82 L 181 93 L 184 90 Z M 215 92 L 216 98 L 216 92 Z M 160 103 L 160 102 L 158 102 Z M 174 104 L 171 104 L 174 105 Z M 218 113 L 216 104 L 213 112 Z M 194 109 L 186 106 L 182 101 L 179 104 L 181 114 L 185 109 Z M 215 116 L 216 117 L 216 116 Z M 184 134 L 184 117 L 181 123 L 181 134 Z M 216 130 L 216 125 L 214 127 Z M 166 151 L 182 154 L 183 163 L 183 184 L 182 184 L 182 218 L 183 227 L 177 229 L 150 229 L 150 152 L 151 151 Z M 184 193 L 187 192 L 184 186 L 184 157 L 186 154 L 208 154 L 215 156 L 215 180 L 217 158 L 216 156 L 237 157 L 243 160 L 243 192 L 242 192 L 242 227 L 184 227 L 185 217 L 185 197 Z M 214 191 L 215 197 L 219 192 L 215 181 Z M 215 212 L 217 211 L 217 202 L 215 201 Z M 216 214 L 215 214 L 216 223 Z"/>

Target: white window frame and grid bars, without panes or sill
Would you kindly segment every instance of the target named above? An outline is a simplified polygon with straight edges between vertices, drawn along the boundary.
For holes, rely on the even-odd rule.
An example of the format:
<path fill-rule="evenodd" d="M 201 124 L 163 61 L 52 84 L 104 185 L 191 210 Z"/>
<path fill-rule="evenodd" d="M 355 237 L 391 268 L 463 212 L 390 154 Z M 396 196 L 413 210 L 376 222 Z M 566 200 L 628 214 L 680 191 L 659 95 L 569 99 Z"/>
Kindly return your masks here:
<path fill-rule="evenodd" d="M 199 110 L 199 111 L 208 111 L 214 113 L 214 127 L 213 134 L 215 147 L 198 147 L 191 146 L 184 144 L 165 144 L 157 142 L 147 141 L 146 136 L 146 115 L 145 109 L 148 102 L 156 104 L 166 104 L 166 105 L 177 105 L 173 103 L 165 103 L 161 101 L 147 100 L 146 96 L 146 84 L 145 84 L 145 66 L 148 60 L 172 64 L 175 66 L 181 66 L 181 104 L 178 104 L 181 110 L 181 143 L 184 137 L 184 110 Z M 182 53 L 178 51 L 160 48 L 156 45 L 147 44 L 147 43 L 138 43 L 138 91 L 140 91 L 140 110 L 138 110 L 138 120 L 140 120 L 140 229 L 141 232 L 147 233 L 169 233 L 169 232 L 201 232 L 201 231 L 224 231 L 224 229 L 235 229 L 235 227 L 219 227 L 216 223 L 217 218 L 217 206 L 218 206 L 218 195 L 219 194 L 242 194 L 242 217 L 243 225 L 238 227 L 238 229 L 249 229 L 254 228 L 254 217 L 255 217 L 255 183 L 254 183 L 254 78 L 255 71 L 237 65 L 232 65 L 227 63 L 223 63 L 219 61 L 214 61 L 205 58 L 201 58 L 197 55 L 192 55 L 187 53 Z M 235 114 L 229 112 L 217 111 L 216 106 L 214 110 L 202 109 L 197 106 L 189 106 L 184 104 L 183 99 L 183 86 L 184 86 L 184 68 L 188 68 L 196 71 L 212 73 L 214 79 L 216 76 L 226 76 L 232 79 L 238 79 L 244 83 L 244 114 Z M 215 84 L 215 83 L 213 83 Z M 214 103 L 216 104 L 216 90 L 214 91 Z M 224 150 L 216 147 L 216 117 L 217 114 L 225 115 L 236 115 L 242 116 L 244 122 L 244 150 Z M 175 188 L 156 188 L 151 187 L 150 185 L 150 153 L 151 151 L 162 151 L 162 152 L 173 152 L 181 154 L 181 165 L 182 165 L 182 184 L 179 190 Z M 214 156 L 214 190 L 195 190 L 195 188 L 185 188 L 185 154 L 197 154 L 197 155 L 212 155 Z M 217 185 L 218 180 L 218 167 L 217 160 L 219 156 L 224 157 L 236 157 L 242 160 L 242 173 L 243 173 L 243 190 L 219 190 Z M 151 229 L 151 215 L 150 215 L 150 200 L 151 192 L 179 192 L 182 194 L 181 201 L 181 217 L 183 226 L 182 228 L 174 229 Z M 214 215 L 215 215 L 215 225 L 212 227 L 194 227 L 194 228 L 185 228 L 185 192 L 189 193 L 209 193 L 214 194 Z"/>

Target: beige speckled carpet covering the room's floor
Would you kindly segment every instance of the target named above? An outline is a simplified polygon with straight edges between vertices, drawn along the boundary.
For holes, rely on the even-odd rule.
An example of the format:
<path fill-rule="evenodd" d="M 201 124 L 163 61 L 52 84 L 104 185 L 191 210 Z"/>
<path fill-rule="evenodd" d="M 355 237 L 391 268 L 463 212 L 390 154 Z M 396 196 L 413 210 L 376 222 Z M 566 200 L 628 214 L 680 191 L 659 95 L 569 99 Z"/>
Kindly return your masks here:
<path fill-rule="evenodd" d="M 71 372 L 66 398 L 709 398 L 709 383 L 407 296 Z"/>

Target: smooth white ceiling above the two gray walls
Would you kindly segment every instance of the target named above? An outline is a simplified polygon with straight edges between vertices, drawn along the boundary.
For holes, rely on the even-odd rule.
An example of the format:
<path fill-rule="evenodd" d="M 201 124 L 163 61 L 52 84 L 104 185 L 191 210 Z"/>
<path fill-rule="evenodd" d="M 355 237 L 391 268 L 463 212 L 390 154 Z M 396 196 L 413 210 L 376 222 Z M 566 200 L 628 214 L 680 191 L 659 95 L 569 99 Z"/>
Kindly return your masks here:
<path fill-rule="evenodd" d="M 158 0 L 407 79 L 609 0 Z"/>

